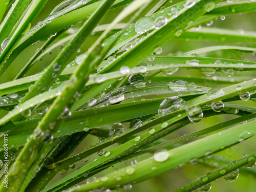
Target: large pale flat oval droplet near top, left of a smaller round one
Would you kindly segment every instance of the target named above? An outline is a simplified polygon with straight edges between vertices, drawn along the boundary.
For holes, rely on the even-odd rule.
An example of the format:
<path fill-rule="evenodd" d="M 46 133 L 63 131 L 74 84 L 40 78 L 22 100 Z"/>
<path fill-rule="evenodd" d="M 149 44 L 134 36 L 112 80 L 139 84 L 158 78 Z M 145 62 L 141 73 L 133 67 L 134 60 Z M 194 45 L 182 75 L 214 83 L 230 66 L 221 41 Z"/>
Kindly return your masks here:
<path fill-rule="evenodd" d="M 139 18 L 135 23 L 135 31 L 138 34 L 145 33 L 155 27 L 154 20 L 150 16 Z"/>

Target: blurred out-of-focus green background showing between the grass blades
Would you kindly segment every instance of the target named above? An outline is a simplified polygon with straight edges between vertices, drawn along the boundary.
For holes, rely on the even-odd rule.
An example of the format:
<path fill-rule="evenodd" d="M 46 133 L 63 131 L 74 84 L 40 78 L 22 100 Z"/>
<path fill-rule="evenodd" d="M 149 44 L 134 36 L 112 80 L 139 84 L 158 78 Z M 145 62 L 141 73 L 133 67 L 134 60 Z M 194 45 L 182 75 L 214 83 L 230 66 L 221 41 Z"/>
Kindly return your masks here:
<path fill-rule="evenodd" d="M 49 13 L 52 11 L 52 9 L 58 5 L 61 1 L 55 0 L 55 1 L 48 1 L 45 8 L 42 10 L 42 12 L 39 14 L 35 22 L 32 24 L 32 26 L 36 25 L 39 21 L 44 20 Z M 174 3 L 178 3 L 180 1 L 173 1 L 173 3 L 169 3 L 169 5 L 172 5 Z M 110 23 L 113 18 L 120 12 L 122 8 L 110 10 L 108 13 L 108 16 L 105 16 L 102 20 L 102 24 L 108 24 Z M 217 19 L 214 20 L 213 24 L 210 27 L 220 27 L 224 29 L 235 29 L 240 32 L 244 31 L 256 31 L 256 12 L 251 13 L 245 13 L 245 14 L 237 14 L 237 15 L 229 15 L 226 16 L 224 20 Z M 79 28 L 81 24 L 75 24 L 73 29 Z M 206 25 L 204 25 L 206 26 Z M 84 46 L 81 48 L 81 53 L 88 50 L 90 45 L 92 45 L 92 42 L 98 37 L 98 35 L 90 36 L 88 41 L 84 44 Z M 12 63 L 11 67 L 7 70 L 7 72 L 1 77 L 0 82 L 7 82 L 13 80 L 15 75 L 18 73 L 20 69 L 26 64 L 26 62 L 29 60 L 29 58 L 35 53 L 36 49 L 39 48 L 44 43 L 43 40 L 41 40 L 39 43 L 37 43 L 35 46 L 30 46 L 27 49 L 24 50 L 22 54 L 20 54 L 15 61 Z M 215 46 L 215 45 L 239 45 L 239 46 L 253 46 L 255 47 L 255 44 L 252 42 L 214 42 L 214 41 L 194 41 L 194 40 L 188 40 L 188 39 L 173 39 L 172 41 L 168 42 L 163 47 L 163 52 L 161 55 L 177 55 L 186 51 L 190 50 L 196 50 L 198 48 L 208 47 L 208 46 Z M 49 65 L 49 63 L 53 60 L 53 58 L 58 54 L 60 51 L 59 48 L 55 49 L 52 54 L 47 54 L 42 60 L 37 61 L 35 66 L 29 71 L 28 75 L 35 74 L 37 72 L 42 71 L 46 66 Z M 79 54 L 79 53 L 77 53 Z M 219 57 L 219 58 L 229 58 L 229 59 L 240 59 L 240 60 L 249 60 L 251 62 L 256 62 L 256 56 L 253 56 L 251 53 L 245 53 L 245 52 L 238 52 L 238 51 L 231 51 L 231 50 L 225 50 L 225 51 L 215 51 L 210 52 L 207 54 L 203 54 L 200 56 L 207 56 L 207 57 Z M 182 69 L 179 70 L 174 75 L 181 75 L 181 76 L 201 76 L 201 72 L 198 70 L 189 70 L 189 69 Z M 216 73 L 217 77 L 224 77 L 225 75 L 221 72 Z M 254 73 L 247 73 L 247 72 L 241 72 L 240 74 L 234 74 L 232 77 L 233 79 L 241 79 L 244 77 L 251 76 L 251 78 L 255 77 Z M 190 83 L 190 82 L 188 82 Z M 218 84 L 216 84 L 214 81 L 212 82 L 201 82 L 196 83 L 201 86 L 208 86 L 208 87 L 218 87 Z M 253 101 L 240 101 L 236 103 L 241 103 L 244 105 L 249 106 L 256 106 L 255 102 Z M 4 115 L 6 112 L 1 112 L 1 115 Z M 168 136 L 166 136 L 164 139 L 171 139 L 175 137 L 182 136 L 184 134 L 188 134 L 190 132 L 194 132 L 197 130 L 204 129 L 205 127 L 215 125 L 219 122 L 223 122 L 229 119 L 232 119 L 236 117 L 235 115 L 219 115 L 214 117 L 209 117 L 207 119 L 203 119 L 199 123 L 189 124 L 185 127 L 183 127 L 181 130 L 176 131 L 175 133 L 172 133 Z M 81 151 L 83 148 L 86 148 L 92 144 L 95 144 L 98 142 L 98 138 L 94 136 L 88 136 L 84 142 L 82 142 L 77 150 L 74 153 L 77 153 Z M 189 140 L 191 142 L 193 140 Z M 115 147 L 117 145 L 109 147 L 109 150 L 111 148 Z M 219 155 L 224 158 L 225 160 L 233 160 L 233 159 L 239 159 L 243 156 L 243 154 L 249 154 L 253 151 L 255 151 L 255 137 L 246 140 L 244 142 L 241 142 L 240 144 L 229 148 L 228 150 L 225 150 L 224 152 L 219 153 Z M 144 158 L 147 158 L 151 156 L 150 154 L 144 155 L 141 157 L 137 157 L 133 160 L 140 161 Z M 97 158 L 97 155 L 92 155 L 89 157 L 89 161 L 92 161 L 94 158 Z M 79 162 L 74 169 L 71 169 L 70 172 L 77 169 L 78 167 L 84 165 L 88 162 Z M 113 172 L 116 168 L 123 167 L 126 165 L 129 165 L 131 163 L 131 160 L 121 162 L 119 164 L 116 164 L 114 167 L 110 167 L 108 170 L 104 170 L 102 173 L 99 173 L 96 175 L 96 177 L 99 177 L 100 175 L 104 175 L 109 172 Z M 165 174 L 158 176 L 156 178 L 144 181 L 142 183 L 138 184 L 132 184 L 133 187 L 130 191 L 148 191 L 148 192 L 160 192 L 160 191 L 172 191 L 174 189 L 177 189 L 191 181 L 196 180 L 197 178 L 211 172 L 212 169 L 205 168 L 199 164 L 196 165 L 190 165 L 186 164 L 182 168 L 174 169 L 169 172 L 166 172 Z M 58 174 L 54 180 L 58 180 L 59 178 L 65 177 L 65 175 Z M 83 182 L 84 183 L 84 182 Z M 247 191 L 247 192 L 254 192 L 256 191 L 256 176 L 251 175 L 243 175 L 240 174 L 239 178 L 234 182 L 228 182 L 224 180 L 223 178 L 218 179 L 217 181 L 214 181 L 211 183 L 212 192 L 219 192 L 219 191 L 233 191 L 233 192 L 240 192 L 240 191 Z M 124 189 L 120 189 L 119 191 L 124 191 Z"/>

